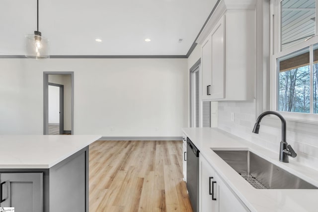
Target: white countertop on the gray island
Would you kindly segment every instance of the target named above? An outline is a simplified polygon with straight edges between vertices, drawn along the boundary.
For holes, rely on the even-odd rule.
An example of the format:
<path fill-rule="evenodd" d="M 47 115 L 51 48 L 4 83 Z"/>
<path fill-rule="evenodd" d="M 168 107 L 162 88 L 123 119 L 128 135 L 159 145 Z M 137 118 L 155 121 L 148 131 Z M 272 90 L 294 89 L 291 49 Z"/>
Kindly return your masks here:
<path fill-rule="evenodd" d="M 0 136 L 0 168 L 51 168 L 101 136 Z"/>

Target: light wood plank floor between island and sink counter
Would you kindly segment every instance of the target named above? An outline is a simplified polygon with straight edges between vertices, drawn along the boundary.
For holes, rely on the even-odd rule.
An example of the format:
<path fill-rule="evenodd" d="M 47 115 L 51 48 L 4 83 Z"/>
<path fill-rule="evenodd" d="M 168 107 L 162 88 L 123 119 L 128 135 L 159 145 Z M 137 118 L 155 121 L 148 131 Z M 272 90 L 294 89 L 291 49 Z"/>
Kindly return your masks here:
<path fill-rule="evenodd" d="M 90 212 L 192 212 L 182 178 L 182 141 L 89 145 Z"/>

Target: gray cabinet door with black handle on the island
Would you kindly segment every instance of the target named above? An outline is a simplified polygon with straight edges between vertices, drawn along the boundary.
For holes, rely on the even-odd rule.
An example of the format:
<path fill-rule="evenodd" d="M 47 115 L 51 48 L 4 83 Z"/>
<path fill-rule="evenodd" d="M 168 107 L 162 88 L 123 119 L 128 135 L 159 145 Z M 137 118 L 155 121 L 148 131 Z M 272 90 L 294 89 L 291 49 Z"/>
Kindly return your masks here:
<path fill-rule="evenodd" d="M 1 207 L 16 212 L 43 212 L 43 173 L 0 173 Z"/>

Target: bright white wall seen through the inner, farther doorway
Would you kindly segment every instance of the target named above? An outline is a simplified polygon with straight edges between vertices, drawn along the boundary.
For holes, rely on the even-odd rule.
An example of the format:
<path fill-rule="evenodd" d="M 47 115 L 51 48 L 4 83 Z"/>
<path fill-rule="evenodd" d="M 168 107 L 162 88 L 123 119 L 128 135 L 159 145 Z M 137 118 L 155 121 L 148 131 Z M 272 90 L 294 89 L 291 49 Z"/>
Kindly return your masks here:
<path fill-rule="evenodd" d="M 60 87 L 49 85 L 49 124 L 60 123 Z"/>

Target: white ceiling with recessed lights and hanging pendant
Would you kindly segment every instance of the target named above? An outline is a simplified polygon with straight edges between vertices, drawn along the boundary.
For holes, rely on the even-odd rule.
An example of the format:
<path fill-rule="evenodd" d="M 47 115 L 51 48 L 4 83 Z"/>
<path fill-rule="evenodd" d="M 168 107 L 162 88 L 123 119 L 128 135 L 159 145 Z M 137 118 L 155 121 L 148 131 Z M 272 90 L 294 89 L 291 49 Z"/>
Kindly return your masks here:
<path fill-rule="evenodd" d="M 39 0 L 39 31 L 50 55 L 186 55 L 216 2 Z M 0 55 L 24 55 L 36 15 L 36 0 L 0 1 Z"/>

